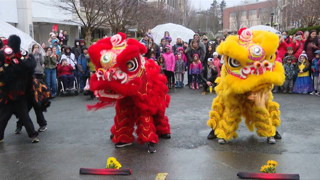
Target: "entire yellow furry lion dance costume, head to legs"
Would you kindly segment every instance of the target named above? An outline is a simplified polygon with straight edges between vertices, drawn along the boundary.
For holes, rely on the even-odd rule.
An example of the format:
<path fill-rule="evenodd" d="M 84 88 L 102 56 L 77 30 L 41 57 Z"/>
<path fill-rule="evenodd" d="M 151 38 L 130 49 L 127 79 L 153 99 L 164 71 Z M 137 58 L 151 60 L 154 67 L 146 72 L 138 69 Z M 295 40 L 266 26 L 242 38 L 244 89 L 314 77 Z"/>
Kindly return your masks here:
<path fill-rule="evenodd" d="M 238 124 L 244 117 L 250 131 L 255 127 L 257 135 L 276 143 L 273 136 L 281 122 L 280 111 L 279 104 L 272 101 L 270 89 L 285 80 L 282 64 L 275 61 L 279 37 L 246 28 L 238 34 L 228 36 L 217 47 L 224 65 L 221 77 L 215 81 L 217 97 L 207 124 L 219 138 L 218 143 L 224 144 L 237 137 Z"/>

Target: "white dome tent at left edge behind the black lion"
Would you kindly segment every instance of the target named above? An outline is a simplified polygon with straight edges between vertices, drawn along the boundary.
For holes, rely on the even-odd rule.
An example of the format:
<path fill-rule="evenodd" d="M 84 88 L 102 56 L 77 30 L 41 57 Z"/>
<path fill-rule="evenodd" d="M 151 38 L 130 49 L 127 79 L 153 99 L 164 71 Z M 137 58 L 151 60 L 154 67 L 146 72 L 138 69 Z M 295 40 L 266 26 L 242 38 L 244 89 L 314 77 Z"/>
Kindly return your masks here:
<path fill-rule="evenodd" d="M 18 35 L 21 39 L 20 47 L 28 53 L 31 53 L 32 45 L 37 44 L 40 48 L 42 54 L 45 54 L 44 49 L 42 49 L 41 45 L 37 43 L 32 37 L 28 34 L 22 32 L 20 29 L 15 28 L 7 22 L 0 21 L 0 37 L 9 38 L 10 35 L 15 34 Z"/>

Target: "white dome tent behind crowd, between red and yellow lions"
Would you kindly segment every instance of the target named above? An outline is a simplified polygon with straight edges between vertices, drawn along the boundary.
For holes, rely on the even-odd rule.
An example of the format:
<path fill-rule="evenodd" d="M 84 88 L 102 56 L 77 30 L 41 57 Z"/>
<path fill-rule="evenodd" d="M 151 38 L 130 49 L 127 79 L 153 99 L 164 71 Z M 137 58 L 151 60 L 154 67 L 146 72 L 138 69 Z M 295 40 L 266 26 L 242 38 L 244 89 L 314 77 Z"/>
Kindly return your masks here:
<path fill-rule="evenodd" d="M 193 39 L 193 35 L 196 34 L 191 29 L 173 23 L 158 25 L 155 28 L 151 29 L 151 31 L 153 33 L 154 42 L 158 45 L 160 45 L 161 38 L 164 37 L 164 32 L 168 31 L 170 37 L 172 38 L 172 46 L 176 44 L 178 36 L 181 36 L 183 41 L 188 42 L 189 39 Z"/>

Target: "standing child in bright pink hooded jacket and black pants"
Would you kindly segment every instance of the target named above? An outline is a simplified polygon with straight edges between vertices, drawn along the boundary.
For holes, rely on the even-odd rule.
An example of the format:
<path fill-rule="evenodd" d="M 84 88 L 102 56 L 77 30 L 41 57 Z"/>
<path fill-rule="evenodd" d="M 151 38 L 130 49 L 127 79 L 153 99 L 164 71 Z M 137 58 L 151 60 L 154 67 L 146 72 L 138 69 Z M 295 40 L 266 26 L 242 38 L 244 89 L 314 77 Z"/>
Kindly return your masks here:
<path fill-rule="evenodd" d="M 171 89 L 172 85 L 174 85 L 174 66 L 176 63 L 176 60 L 174 58 L 174 55 L 171 53 L 171 45 L 166 45 L 164 47 L 164 54 L 162 55 L 164 57 L 164 62 L 166 65 L 166 70 L 164 71 L 164 74 L 167 76 L 168 79 L 168 88 Z M 171 83 L 172 79 L 172 83 Z"/>

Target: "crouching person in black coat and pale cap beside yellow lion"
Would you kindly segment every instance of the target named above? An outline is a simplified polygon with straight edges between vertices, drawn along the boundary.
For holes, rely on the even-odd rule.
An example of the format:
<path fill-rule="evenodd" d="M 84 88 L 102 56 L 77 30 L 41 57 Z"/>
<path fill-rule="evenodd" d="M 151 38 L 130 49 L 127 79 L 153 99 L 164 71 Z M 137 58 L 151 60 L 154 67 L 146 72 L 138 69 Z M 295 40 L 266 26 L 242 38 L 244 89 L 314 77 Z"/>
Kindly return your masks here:
<path fill-rule="evenodd" d="M 200 77 L 202 79 L 203 92 L 206 92 L 209 86 L 217 85 L 214 81 L 218 77 L 218 70 L 217 67 L 213 65 L 212 58 L 209 58 L 208 65 L 202 68 Z"/>

